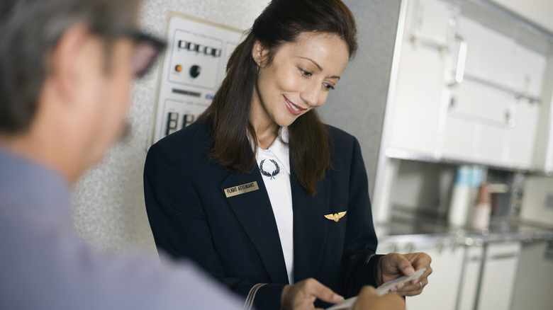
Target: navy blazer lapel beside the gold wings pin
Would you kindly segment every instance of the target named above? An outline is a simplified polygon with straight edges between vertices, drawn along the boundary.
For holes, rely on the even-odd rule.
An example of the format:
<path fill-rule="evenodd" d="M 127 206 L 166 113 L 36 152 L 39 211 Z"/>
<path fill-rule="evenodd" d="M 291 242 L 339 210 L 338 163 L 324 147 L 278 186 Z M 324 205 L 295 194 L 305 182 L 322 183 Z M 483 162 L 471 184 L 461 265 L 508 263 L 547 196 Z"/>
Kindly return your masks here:
<path fill-rule="evenodd" d="M 327 235 L 330 181 L 318 184 L 317 194 L 308 195 L 291 169 L 290 184 L 294 209 L 294 282 L 313 277 L 322 260 Z"/>

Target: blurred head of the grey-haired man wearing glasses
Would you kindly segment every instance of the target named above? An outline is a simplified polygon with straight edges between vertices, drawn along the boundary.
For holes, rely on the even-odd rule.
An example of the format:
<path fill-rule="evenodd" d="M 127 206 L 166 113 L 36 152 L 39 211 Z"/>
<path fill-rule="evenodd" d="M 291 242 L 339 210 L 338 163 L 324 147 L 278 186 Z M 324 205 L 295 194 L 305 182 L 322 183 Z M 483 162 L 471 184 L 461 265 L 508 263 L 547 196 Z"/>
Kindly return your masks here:
<path fill-rule="evenodd" d="M 0 146 L 74 181 L 125 125 L 130 81 L 162 45 L 138 0 L 2 0 Z"/>

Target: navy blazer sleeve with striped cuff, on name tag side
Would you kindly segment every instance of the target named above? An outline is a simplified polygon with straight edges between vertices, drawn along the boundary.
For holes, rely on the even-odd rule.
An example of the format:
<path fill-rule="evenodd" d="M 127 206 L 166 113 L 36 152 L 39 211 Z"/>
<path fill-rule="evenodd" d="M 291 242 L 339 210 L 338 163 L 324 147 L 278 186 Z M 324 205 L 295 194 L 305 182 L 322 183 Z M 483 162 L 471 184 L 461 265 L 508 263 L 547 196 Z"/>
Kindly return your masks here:
<path fill-rule="evenodd" d="M 258 309 L 279 309 L 284 285 L 252 283 L 225 277 L 225 270 L 211 241 L 206 213 L 182 160 L 164 144 L 148 151 L 144 168 L 144 195 L 148 220 L 158 251 L 173 258 L 191 258 L 208 274 L 252 302 Z"/>

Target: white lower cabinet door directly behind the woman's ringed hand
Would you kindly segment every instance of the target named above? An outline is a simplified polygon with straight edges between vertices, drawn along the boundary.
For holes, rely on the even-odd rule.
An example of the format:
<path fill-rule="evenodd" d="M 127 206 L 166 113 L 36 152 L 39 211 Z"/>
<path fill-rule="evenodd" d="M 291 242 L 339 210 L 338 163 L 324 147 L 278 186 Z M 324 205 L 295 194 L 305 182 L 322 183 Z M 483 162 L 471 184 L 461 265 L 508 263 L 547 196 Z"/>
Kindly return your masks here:
<path fill-rule="evenodd" d="M 418 296 L 406 298 L 409 310 L 455 309 L 459 279 L 461 278 L 464 246 L 444 246 L 443 248 L 417 248 L 415 252 L 425 252 L 432 258 L 432 275 L 428 285 Z"/>

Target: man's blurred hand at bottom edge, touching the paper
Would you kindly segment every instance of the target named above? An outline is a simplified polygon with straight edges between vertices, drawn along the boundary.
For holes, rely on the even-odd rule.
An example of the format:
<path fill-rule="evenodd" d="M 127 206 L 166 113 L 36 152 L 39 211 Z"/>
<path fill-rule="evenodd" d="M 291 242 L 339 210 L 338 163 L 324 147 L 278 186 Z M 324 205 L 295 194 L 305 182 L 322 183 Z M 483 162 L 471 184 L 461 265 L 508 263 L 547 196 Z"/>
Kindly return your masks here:
<path fill-rule="evenodd" d="M 374 287 L 366 286 L 357 295 L 354 310 L 404 310 L 405 300 L 398 294 L 390 293 L 376 296 Z"/>

